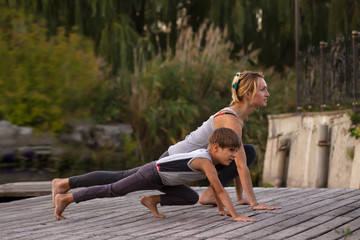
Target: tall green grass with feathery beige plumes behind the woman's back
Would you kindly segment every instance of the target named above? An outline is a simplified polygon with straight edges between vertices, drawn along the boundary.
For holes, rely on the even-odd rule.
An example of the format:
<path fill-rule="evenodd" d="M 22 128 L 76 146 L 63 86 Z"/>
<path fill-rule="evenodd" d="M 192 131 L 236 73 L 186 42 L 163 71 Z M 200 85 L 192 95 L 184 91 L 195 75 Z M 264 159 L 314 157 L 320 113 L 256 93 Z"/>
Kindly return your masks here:
<path fill-rule="evenodd" d="M 127 121 L 135 129 L 143 161 L 158 158 L 230 101 L 235 72 L 231 47 L 226 33 L 203 24 L 198 33 L 183 30 L 175 53 L 169 49 L 164 61 L 158 56 L 144 62 L 139 54 L 137 71 L 127 80 L 131 89 L 121 95 L 129 94 Z"/>

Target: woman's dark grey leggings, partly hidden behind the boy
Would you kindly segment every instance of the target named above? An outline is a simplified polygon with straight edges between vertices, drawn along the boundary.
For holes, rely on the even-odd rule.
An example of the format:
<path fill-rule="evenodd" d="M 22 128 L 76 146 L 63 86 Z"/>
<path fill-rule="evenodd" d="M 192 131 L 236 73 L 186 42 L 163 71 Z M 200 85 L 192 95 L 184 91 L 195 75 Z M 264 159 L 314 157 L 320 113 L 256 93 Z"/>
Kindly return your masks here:
<path fill-rule="evenodd" d="M 244 144 L 244 149 L 246 153 L 247 165 L 250 166 L 256 160 L 256 150 L 253 145 Z M 168 156 L 166 151 L 160 158 Z M 140 167 L 133 168 L 130 170 L 124 171 L 95 171 L 86 173 L 79 176 L 74 176 L 69 178 L 69 185 L 71 189 L 78 187 L 90 187 L 95 185 L 105 185 L 117 182 L 123 178 L 126 178 L 134 173 L 136 173 Z M 223 186 L 226 186 L 231 180 L 237 177 L 238 171 L 236 168 L 235 161 L 232 161 L 229 166 L 223 166 L 221 164 L 216 165 L 216 169 L 219 172 L 219 180 Z"/>

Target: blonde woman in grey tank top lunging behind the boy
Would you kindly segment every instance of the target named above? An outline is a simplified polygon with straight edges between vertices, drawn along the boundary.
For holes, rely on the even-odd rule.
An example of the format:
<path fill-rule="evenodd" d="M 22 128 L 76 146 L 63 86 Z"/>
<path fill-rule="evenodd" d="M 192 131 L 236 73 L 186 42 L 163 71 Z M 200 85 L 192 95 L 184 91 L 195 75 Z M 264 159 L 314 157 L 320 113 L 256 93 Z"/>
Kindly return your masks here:
<path fill-rule="evenodd" d="M 169 147 L 161 157 L 175 153 L 190 152 L 199 148 L 206 148 L 211 133 L 221 127 L 231 128 L 242 138 L 242 128 L 245 119 L 258 107 L 266 107 L 270 96 L 262 73 L 246 71 L 238 73 L 232 82 L 232 102 L 230 107 L 224 108 L 210 116 L 198 129 L 191 132 L 183 141 Z M 160 158 L 161 158 L 160 157 Z M 248 158 L 248 160 L 247 160 Z M 258 203 L 252 188 L 250 172 L 247 166 L 256 158 L 253 146 L 245 145 L 236 154 L 235 162 L 229 166 L 217 166 L 220 170 L 219 179 L 223 185 L 234 179 L 239 204 L 250 204 L 252 209 L 278 209 L 264 203 Z M 138 168 L 122 172 L 97 171 L 66 179 L 54 179 L 52 181 L 53 201 L 58 193 L 66 193 L 71 188 L 88 187 L 116 182 L 124 177 L 135 173 Z M 240 177 L 240 178 L 239 178 Z M 241 179 L 241 182 L 240 182 Z M 242 197 L 244 190 L 248 201 Z M 208 187 L 201 195 L 201 204 L 216 204 L 211 187 Z"/>

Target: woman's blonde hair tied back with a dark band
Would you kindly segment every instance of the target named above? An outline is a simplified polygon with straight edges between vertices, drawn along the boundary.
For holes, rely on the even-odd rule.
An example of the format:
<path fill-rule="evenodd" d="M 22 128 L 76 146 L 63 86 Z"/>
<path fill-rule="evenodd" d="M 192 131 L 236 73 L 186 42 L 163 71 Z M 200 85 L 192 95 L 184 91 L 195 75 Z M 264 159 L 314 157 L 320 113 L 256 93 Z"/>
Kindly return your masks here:
<path fill-rule="evenodd" d="M 241 102 L 248 92 L 251 93 L 251 97 L 254 97 L 257 91 L 258 78 L 264 78 L 264 75 L 261 72 L 251 71 L 237 73 L 231 85 L 232 101 L 230 105 Z"/>

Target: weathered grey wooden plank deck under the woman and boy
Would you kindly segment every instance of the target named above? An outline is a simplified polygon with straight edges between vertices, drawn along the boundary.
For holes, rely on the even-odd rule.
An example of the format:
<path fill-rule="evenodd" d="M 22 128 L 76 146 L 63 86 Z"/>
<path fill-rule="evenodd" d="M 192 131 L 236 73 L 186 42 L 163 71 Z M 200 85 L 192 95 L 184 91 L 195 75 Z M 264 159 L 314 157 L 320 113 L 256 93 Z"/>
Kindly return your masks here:
<path fill-rule="evenodd" d="M 227 190 L 235 200 L 234 188 Z M 71 204 L 64 212 L 67 219 L 57 221 L 50 195 L 1 203 L 0 239 L 360 239 L 360 190 L 254 190 L 259 201 L 282 209 L 236 206 L 256 219 L 243 223 L 219 216 L 215 207 L 165 206 L 159 211 L 166 218 L 156 219 L 139 198 L 157 192 L 141 191 Z"/>

